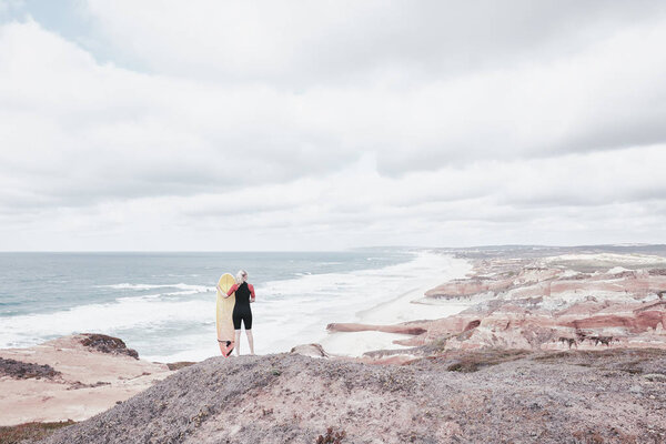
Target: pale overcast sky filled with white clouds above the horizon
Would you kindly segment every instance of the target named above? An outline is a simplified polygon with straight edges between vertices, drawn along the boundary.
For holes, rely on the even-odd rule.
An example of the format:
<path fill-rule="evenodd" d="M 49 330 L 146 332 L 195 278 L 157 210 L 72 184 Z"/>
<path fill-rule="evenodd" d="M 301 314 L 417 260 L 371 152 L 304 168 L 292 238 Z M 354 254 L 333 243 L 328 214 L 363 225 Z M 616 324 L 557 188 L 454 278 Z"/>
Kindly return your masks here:
<path fill-rule="evenodd" d="M 0 0 L 0 251 L 666 241 L 666 2 Z"/>

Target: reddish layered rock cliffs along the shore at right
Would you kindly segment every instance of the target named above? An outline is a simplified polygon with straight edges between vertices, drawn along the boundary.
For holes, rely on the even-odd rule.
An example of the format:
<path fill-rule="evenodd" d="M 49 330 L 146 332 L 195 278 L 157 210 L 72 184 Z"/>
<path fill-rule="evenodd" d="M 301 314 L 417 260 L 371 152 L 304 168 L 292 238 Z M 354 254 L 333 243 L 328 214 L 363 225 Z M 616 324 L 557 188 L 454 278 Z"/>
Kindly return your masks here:
<path fill-rule="evenodd" d="M 622 266 L 622 255 L 614 260 Z M 594 258 L 582 263 L 594 269 Z M 558 261 L 486 260 L 476 264 L 475 275 L 426 292 L 426 301 L 476 303 L 457 315 L 391 326 L 332 324 L 330 330 L 406 333 L 413 337 L 395 343 L 442 350 L 666 349 L 666 272 L 619 270 L 578 273 Z"/>

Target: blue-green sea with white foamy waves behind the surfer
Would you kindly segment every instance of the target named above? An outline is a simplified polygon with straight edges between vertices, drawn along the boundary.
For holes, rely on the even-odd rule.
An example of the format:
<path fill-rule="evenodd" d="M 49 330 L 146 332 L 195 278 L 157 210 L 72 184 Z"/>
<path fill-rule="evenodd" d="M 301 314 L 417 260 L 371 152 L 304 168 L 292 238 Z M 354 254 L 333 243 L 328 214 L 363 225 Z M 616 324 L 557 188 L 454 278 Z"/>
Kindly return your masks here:
<path fill-rule="evenodd" d="M 256 291 L 255 352 L 285 352 L 319 342 L 326 324 L 354 322 L 450 264 L 437 252 L 406 249 L 0 253 L 0 349 L 97 332 L 151 361 L 215 356 L 215 284 L 244 269 Z M 248 352 L 244 334 L 241 347 Z"/>

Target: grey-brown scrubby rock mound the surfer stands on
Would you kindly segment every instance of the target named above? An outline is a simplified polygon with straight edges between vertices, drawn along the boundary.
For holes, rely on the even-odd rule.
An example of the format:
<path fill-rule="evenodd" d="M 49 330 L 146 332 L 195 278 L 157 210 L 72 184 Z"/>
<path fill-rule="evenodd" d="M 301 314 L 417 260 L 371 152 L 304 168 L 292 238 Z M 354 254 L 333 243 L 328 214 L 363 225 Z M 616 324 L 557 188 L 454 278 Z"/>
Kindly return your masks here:
<path fill-rule="evenodd" d="M 644 377 L 666 374 L 664 351 L 491 357 L 214 357 L 43 443 L 315 443 L 329 427 L 342 443 L 666 442 L 666 384 Z"/>

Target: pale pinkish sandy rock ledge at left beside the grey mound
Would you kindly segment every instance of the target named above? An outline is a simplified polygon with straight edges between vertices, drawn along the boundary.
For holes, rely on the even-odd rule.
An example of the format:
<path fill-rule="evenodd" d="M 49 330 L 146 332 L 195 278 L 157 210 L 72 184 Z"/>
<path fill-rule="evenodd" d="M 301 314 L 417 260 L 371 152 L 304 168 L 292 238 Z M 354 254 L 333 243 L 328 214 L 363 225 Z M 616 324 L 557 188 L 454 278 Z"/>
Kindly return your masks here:
<path fill-rule="evenodd" d="M 172 373 L 100 334 L 0 350 L 0 426 L 87 420 Z"/>

